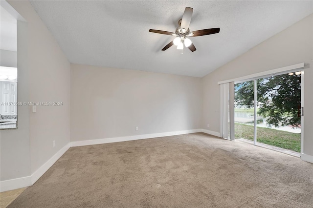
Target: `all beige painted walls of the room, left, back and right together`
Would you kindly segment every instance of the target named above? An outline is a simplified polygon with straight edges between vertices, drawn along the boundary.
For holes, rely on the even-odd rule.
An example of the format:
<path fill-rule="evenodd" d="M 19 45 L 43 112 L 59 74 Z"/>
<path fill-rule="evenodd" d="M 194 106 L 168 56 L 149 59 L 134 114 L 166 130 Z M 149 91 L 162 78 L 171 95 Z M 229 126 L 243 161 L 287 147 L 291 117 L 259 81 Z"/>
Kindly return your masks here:
<path fill-rule="evenodd" d="M 18 21 L 18 101 L 63 105 L 38 106 L 36 113 L 18 107 L 19 128 L 0 131 L 1 181 L 30 176 L 69 141 L 198 128 L 219 132 L 218 81 L 299 62 L 310 64 L 304 153 L 313 155 L 312 15 L 201 79 L 70 65 L 30 3 L 9 3 L 27 21 Z"/>

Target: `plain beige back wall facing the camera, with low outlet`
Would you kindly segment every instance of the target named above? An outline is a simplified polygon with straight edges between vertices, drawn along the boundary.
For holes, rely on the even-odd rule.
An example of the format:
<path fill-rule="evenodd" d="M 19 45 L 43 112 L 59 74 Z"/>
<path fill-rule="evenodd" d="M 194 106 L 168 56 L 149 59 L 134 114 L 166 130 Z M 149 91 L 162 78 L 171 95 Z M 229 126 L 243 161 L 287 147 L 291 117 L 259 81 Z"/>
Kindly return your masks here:
<path fill-rule="evenodd" d="M 71 142 L 201 128 L 201 78 L 71 64 L 70 98 Z"/>

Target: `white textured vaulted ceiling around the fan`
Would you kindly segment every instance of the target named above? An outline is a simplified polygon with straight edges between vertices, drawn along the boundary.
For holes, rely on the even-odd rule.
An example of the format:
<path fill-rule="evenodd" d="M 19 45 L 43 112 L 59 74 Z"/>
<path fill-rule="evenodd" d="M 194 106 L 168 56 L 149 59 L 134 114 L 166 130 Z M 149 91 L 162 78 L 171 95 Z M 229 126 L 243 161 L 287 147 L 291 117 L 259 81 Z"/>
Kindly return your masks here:
<path fill-rule="evenodd" d="M 313 12 L 312 1 L 31 1 L 69 62 L 203 77 Z M 197 50 L 172 46 L 185 7 Z"/>

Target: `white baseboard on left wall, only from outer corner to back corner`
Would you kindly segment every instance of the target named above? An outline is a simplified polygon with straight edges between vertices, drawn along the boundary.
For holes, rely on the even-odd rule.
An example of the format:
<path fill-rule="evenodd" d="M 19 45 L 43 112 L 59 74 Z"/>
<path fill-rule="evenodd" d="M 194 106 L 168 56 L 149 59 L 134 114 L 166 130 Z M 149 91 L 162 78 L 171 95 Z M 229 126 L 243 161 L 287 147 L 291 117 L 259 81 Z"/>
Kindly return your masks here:
<path fill-rule="evenodd" d="M 66 146 L 62 147 L 55 155 L 53 155 L 44 165 L 39 167 L 33 174 L 31 174 L 31 185 L 33 185 L 45 171 L 47 171 L 66 151 L 69 149 L 69 143 Z"/>

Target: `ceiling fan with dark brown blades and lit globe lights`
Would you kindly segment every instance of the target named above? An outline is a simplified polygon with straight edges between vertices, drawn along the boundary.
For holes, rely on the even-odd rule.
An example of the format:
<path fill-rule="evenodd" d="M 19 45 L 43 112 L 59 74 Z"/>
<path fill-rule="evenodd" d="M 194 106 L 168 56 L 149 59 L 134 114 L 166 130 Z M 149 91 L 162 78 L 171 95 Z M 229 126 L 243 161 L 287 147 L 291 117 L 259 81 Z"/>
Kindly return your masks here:
<path fill-rule="evenodd" d="M 187 37 L 211 35 L 211 34 L 215 34 L 215 33 L 220 32 L 220 28 L 210 28 L 210 29 L 196 30 L 196 31 L 190 32 L 189 31 L 189 24 L 191 21 L 193 10 L 194 9 L 190 8 L 190 7 L 185 8 L 182 19 L 180 19 L 178 21 L 179 26 L 176 28 L 175 33 L 167 32 L 167 31 L 163 31 L 163 30 L 153 30 L 153 29 L 149 30 L 149 32 L 152 32 L 152 33 L 159 33 L 159 34 L 164 34 L 164 35 L 176 36 L 176 38 L 172 42 L 168 43 L 167 45 L 165 45 L 164 48 L 162 48 L 162 51 L 165 51 L 166 49 L 168 49 L 172 45 L 177 45 L 177 49 L 182 50 L 184 48 L 184 45 L 185 45 L 187 48 L 189 48 L 189 50 L 194 52 L 196 50 L 196 47 L 191 42 L 191 40 Z"/>

